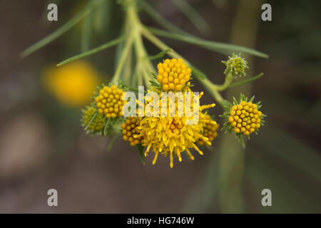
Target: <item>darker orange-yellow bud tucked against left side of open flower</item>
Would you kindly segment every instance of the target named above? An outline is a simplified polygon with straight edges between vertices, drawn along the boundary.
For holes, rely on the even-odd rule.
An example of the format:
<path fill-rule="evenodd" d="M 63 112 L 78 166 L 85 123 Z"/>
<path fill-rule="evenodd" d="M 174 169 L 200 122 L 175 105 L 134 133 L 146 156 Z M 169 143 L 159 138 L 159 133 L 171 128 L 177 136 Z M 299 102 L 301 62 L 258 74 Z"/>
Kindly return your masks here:
<path fill-rule="evenodd" d="M 141 143 L 143 140 L 136 129 L 139 124 L 139 118 L 129 117 L 125 123 L 121 125 L 121 128 L 123 128 L 123 140 L 130 142 L 133 146 Z"/>

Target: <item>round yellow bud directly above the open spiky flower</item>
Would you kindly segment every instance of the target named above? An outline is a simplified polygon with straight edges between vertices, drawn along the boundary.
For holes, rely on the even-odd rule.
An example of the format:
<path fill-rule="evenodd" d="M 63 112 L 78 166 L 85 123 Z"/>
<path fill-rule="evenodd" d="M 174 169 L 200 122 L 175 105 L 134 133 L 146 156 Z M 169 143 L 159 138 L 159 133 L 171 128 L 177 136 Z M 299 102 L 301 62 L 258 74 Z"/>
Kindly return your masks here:
<path fill-rule="evenodd" d="M 192 70 L 187 68 L 181 58 L 178 60 L 167 58 L 163 63 L 158 63 L 157 68 L 157 80 L 165 91 L 181 90 L 185 83 L 190 80 L 190 74 L 192 73 Z"/>

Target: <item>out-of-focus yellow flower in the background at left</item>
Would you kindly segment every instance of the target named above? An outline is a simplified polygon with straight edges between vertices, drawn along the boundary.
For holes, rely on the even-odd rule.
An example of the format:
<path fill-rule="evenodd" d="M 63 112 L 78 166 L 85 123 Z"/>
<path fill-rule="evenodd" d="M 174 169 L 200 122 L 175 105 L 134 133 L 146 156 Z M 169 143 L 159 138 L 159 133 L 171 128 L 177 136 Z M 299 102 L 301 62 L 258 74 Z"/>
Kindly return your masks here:
<path fill-rule="evenodd" d="M 46 68 L 44 86 L 57 100 L 66 105 L 86 105 L 96 89 L 98 73 L 84 61 Z"/>

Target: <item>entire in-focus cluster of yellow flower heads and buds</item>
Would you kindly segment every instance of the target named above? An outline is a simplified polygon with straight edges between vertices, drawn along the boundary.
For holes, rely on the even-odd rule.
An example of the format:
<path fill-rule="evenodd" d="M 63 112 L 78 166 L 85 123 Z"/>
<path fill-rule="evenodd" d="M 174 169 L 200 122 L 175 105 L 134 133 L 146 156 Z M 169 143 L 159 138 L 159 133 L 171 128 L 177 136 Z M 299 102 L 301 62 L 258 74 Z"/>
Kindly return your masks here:
<path fill-rule="evenodd" d="M 246 61 L 235 55 L 229 57 L 225 64 L 228 66 L 226 76 L 232 80 L 236 75 L 243 75 L 247 67 Z M 138 89 L 138 100 L 133 100 L 135 102 L 123 100 L 125 90 L 132 88 L 103 86 L 91 106 L 83 111 L 82 125 L 90 133 L 110 137 L 115 133 L 122 135 L 123 140 L 138 148 L 141 159 L 153 153 L 153 165 L 160 155 L 169 157 L 170 167 L 173 167 L 175 157 L 179 162 L 183 160 L 183 153 L 194 160 L 192 150 L 203 155 L 200 148 L 212 145 L 219 125 L 205 112 L 215 104 L 200 105 L 204 93 L 191 90 L 191 73 L 182 59 L 165 59 L 158 64 L 158 83 L 151 81 L 152 90 Z M 253 100 L 254 96 L 248 100 L 241 94 L 240 100 L 234 98 L 233 104 L 227 100 L 220 102 L 225 111 L 221 116 L 228 120 L 222 130 L 235 133 L 243 146 L 243 136 L 250 138 L 251 133 L 258 133 L 260 126 L 264 125 L 265 115 L 260 111 L 260 102 L 253 103 Z M 129 117 L 128 113 L 123 113 L 124 105 L 125 110 L 131 112 Z"/>

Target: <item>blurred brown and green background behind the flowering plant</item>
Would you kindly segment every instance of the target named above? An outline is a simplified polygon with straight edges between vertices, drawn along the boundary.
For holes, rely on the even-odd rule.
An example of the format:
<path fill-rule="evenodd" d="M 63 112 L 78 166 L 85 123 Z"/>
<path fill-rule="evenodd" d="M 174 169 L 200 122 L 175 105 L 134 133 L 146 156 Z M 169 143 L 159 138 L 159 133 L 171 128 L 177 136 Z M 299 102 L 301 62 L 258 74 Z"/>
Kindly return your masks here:
<path fill-rule="evenodd" d="M 156 165 L 148 157 L 141 165 L 136 149 L 121 140 L 107 151 L 108 138 L 83 132 L 81 108 L 61 103 L 44 87 L 47 66 L 80 53 L 81 26 L 31 56 L 19 57 L 83 4 L 52 2 L 58 4 L 58 22 L 46 20 L 51 1 L 0 1 L 0 212 L 321 212 L 320 1 L 267 1 L 272 5 L 272 21 L 267 22 L 260 19 L 265 1 L 189 1 L 208 21 L 205 33 L 170 1 L 149 1 L 195 36 L 250 46 L 270 56 L 248 58 L 248 76 L 265 75 L 250 88 L 240 88 L 263 101 L 267 121 L 260 134 L 233 154 L 224 146 L 230 138 L 220 132 L 205 155 L 196 155 L 193 162 L 183 158 L 173 169 L 168 157 Z M 91 48 L 118 36 L 123 11 L 116 1 L 111 7 L 111 22 L 91 38 Z M 159 27 L 146 14 L 141 19 Z M 226 56 L 163 40 L 214 83 L 223 82 L 220 61 Z M 158 52 L 150 43 L 146 46 L 150 53 Z M 103 82 L 113 75 L 115 51 L 86 58 Z M 225 98 L 239 94 L 230 90 Z M 205 93 L 202 101 L 213 98 Z M 221 113 L 219 106 L 213 108 L 217 118 Z M 47 205 L 51 188 L 58 190 L 58 207 Z M 261 205 L 264 188 L 272 190 L 272 207 Z"/>

